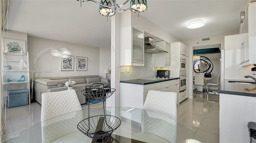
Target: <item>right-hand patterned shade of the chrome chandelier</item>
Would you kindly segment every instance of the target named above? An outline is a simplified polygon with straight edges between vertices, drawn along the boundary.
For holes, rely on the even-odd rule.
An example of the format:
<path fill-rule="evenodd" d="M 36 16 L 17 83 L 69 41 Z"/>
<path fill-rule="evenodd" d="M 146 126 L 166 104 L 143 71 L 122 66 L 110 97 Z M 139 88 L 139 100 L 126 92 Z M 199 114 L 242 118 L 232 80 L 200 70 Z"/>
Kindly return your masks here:
<path fill-rule="evenodd" d="M 138 12 L 144 12 L 147 9 L 147 0 L 131 0 L 130 7 Z M 131 9 L 132 12 L 137 12 L 133 9 Z"/>

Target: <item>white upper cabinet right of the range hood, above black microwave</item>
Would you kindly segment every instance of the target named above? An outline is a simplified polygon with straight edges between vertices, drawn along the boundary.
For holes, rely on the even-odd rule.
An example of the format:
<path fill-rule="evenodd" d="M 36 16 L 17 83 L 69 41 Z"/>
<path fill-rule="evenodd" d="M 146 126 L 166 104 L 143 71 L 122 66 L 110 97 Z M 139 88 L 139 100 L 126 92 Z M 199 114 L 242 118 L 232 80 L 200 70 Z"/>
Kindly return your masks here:
<path fill-rule="evenodd" d="M 155 44 L 161 49 L 168 53 L 157 53 L 156 56 L 156 67 L 166 67 L 171 65 L 171 44 L 166 41 L 158 41 Z"/>

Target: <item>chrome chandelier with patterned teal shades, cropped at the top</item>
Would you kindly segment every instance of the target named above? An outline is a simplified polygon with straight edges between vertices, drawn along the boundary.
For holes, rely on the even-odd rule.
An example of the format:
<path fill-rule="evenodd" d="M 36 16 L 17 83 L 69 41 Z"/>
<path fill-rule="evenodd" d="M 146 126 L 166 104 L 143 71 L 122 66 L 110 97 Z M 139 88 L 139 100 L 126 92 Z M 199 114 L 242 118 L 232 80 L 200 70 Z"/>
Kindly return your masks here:
<path fill-rule="evenodd" d="M 80 7 L 82 6 L 82 2 L 92 1 L 96 4 L 100 5 L 99 12 L 102 16 L 114 16 L 117 11 L 126 11 L 131 10 L 132 12 L 139 13 L 144 12 L 147 9 L 147 0 L 125 0 L 122 4 L 117 4 L 116 0 L 100 0 L 97 2 L 96 0 L 77 0 L 80 1 Z M 125 4 L 130 1 L 130 8 L 121 8 Z"/>

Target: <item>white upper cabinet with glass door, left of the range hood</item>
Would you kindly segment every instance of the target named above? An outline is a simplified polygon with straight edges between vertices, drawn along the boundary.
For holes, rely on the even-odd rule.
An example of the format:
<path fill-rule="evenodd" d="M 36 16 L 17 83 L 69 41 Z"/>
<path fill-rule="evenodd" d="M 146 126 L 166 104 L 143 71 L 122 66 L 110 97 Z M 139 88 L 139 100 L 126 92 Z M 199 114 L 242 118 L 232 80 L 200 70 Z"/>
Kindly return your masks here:
<path fill-rule="evenodd" d="M 121 28 L 120 46 L 121 66 L 144 66 L 144 31 L 132 26 Z"/>

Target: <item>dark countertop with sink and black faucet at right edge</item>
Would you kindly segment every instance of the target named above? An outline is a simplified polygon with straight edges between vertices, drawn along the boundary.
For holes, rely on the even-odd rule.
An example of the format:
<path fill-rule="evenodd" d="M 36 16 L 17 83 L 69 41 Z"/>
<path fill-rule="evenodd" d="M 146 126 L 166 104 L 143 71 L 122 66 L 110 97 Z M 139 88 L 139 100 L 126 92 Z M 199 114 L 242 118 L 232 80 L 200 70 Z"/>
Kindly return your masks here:
<path fill-rule="evenodd" d="M 254 82 L 254 80 L 224 79 L 218 93 L 256 97 L 256 84 L 230 83 L 228 81 Z"/>

